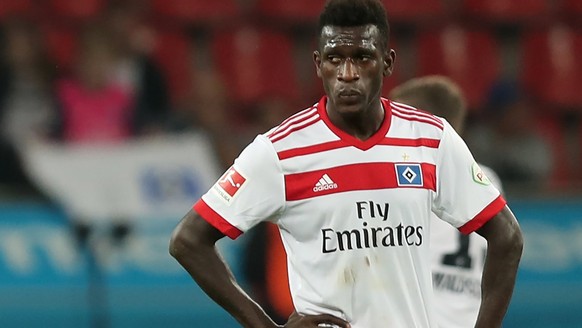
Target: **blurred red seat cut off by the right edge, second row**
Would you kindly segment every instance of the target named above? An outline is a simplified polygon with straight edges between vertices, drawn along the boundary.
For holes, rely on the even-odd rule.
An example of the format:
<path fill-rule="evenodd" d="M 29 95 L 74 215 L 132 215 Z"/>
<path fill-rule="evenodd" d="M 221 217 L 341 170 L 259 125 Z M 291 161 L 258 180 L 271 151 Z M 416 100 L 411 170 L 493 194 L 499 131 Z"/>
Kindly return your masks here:
<path fill-rule="evenodd" d="M 582 32 L 556 24 L 524 35 L 521 79 L 537 100 L 582 109 Z"/>

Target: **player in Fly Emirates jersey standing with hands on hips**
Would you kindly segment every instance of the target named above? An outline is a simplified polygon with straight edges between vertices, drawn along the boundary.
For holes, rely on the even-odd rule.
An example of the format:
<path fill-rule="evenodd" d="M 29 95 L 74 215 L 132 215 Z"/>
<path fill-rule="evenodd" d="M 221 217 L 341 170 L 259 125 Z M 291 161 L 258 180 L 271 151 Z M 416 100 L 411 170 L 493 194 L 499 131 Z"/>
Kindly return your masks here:
<path fill-rule="evenodd" d="M 313 53 L 326 95 L 257 136 L 176 227 L 170 253 L 244 327 L 277 327 L 217 252 L 261 221 L 288 255 L 285 327 L 437 327 L 430 216 L 488 241 L 476 327 L 500 327 L 522 237 L 443 119 L 380 97 L 391 74 L 379 0 L 329 0 Z"/>

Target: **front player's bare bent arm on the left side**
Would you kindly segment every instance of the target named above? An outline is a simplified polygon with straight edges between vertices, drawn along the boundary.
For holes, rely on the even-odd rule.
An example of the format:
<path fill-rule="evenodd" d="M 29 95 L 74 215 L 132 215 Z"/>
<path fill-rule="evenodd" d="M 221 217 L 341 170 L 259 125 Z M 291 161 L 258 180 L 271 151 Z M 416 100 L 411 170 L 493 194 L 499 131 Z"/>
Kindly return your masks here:
<path fill-rule="evenodd" d="M 215 246 L 222 237 L 220 231 L 191 210 L 174 229 L 170 254 L 243 327 L 278 327 L 237 284 Z"/>

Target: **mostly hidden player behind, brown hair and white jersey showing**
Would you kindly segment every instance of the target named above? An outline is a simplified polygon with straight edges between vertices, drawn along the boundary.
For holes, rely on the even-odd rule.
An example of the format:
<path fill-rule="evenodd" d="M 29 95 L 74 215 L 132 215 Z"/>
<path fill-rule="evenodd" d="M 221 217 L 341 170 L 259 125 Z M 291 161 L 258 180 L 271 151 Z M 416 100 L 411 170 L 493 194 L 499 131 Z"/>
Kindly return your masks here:
<path fill-rule="evenodd" d="M 394 88 L 389 98 L 445 118 L 461 134 L 466 102 L 457 84 L 443 76 L 411 79 Z M 497 175 L 480 165 L 484 183 L 501 191 Z M 488 180 L 487 180 L 488 179 Z M 430 251 L 435 292 L 435 315 L 442 328 L 474 327 L 481 304 L 481 274 L 487 249 L 478 234 L 464 235 L 433 215 Z"/>

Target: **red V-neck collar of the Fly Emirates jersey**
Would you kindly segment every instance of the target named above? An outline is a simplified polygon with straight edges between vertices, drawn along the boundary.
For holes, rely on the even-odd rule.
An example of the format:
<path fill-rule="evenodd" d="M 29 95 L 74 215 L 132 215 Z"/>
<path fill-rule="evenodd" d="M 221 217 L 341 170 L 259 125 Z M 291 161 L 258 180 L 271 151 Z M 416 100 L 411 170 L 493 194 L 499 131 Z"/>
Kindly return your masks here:
<path fill-rule="evenodd" d="M 329 116 L 327 115 L 327 111 L 325 110 L 325 106 L 327 104 L 327 96 L 323 96 L 321 100 L 319 100 L 319 103 L 317 104 L 317 111 L 319 113 L 319 116 L 322 118 L 323 122 L 325 122 L 325 125 L 327 125 L 327 127 L 343 142 L 361 150 L 368 150 L 372 148 L 374 145 L 378 144 L 380 141 L 382 141 L 384 137 L 386 137 L 386 134 L 390 129 L 390 122 L 392 121 L 390 101 L 385 98 L 381 98 L 380 100 L 382 102 L 382 107 L 384 108 L 384 120 L 382 121 L 382 125 L 380 125 L 378 131 L 376 131 L 376 133 L 374 133 L 367 140 L 360 140 L 344 132 L 331 122 Z"/>

